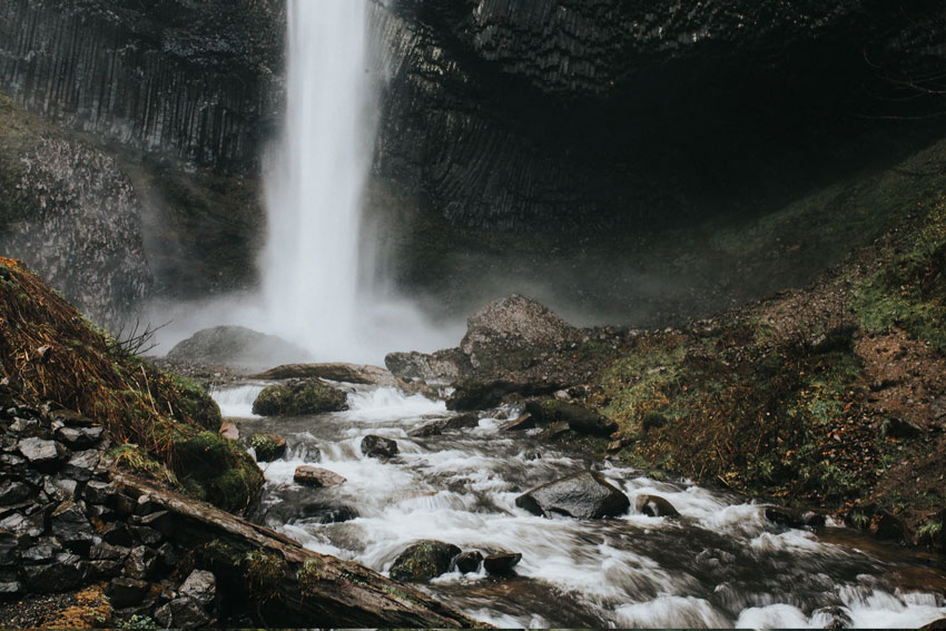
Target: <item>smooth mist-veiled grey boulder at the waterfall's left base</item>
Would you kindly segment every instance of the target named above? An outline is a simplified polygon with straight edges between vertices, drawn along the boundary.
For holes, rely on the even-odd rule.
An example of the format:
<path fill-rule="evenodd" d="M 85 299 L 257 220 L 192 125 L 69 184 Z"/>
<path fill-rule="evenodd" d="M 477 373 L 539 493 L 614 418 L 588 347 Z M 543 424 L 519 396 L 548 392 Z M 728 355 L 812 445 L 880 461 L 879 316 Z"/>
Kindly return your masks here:
<path fill-rule="evenodd" d="M 198 331 L 167 354 L 178 365 L 226 365 L 259 368 L 305 361 L 308 353 L 275 335 L 242 326 Z"/>

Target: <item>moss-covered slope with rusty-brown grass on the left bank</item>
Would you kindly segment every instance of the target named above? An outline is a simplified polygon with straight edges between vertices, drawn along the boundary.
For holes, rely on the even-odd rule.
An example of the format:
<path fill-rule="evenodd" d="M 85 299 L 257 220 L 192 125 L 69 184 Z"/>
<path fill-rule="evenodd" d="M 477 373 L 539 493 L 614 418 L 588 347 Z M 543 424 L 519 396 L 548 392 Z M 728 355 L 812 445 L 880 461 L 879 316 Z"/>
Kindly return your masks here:
<path fill-rule="evenodd" d="M 0 258 L 0 372 L 13 392 L 104 425 L 119 465 L 227 510 L 258 499 L 263 476 L 220 411 L 184 377 L 158 371 L 91 325 L 22 264 Z"/>

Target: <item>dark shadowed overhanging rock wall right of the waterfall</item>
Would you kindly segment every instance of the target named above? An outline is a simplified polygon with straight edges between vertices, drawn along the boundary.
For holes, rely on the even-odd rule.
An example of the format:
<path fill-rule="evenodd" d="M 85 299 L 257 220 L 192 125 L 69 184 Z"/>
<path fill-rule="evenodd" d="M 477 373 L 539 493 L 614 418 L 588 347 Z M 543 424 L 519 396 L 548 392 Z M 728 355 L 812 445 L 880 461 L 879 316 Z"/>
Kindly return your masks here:
<path fill-rule="evenodd" d="M 881 75 L 942 67 L 937 4 L 401 0 L 376 18 L 391 56 L 376 171 L 490 229 L 797 195 L 864 166 L 865 120 L 905 114 L 871 99 Z"/>

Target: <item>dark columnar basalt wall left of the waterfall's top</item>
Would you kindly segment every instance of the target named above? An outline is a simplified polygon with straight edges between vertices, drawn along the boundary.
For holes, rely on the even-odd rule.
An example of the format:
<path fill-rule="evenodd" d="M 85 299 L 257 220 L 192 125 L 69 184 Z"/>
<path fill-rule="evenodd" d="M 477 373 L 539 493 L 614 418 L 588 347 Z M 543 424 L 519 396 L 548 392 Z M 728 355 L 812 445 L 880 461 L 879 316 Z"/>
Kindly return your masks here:
<path fill-rule="evenodd" d="M 277 118 L 282 33 L 276 0 L 4 0 L 0 90 L 125 146 L 246 168 Z"/>

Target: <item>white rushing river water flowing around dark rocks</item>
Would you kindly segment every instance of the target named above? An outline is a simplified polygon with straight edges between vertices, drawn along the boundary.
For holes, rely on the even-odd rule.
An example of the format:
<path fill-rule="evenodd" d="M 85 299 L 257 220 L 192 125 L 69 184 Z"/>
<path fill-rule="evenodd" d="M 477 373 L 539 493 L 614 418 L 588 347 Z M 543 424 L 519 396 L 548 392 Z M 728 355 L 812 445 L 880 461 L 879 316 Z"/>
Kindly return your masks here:
<path fill-rule="evenodd" d="M 214 397 L 243 435 L 284 435 L 287 455 L 260 464 L 259 521 L 305 546 L 386 572 L 411 543 L 435 539 L 463 550 L 522 553 L 516 576 L 451 573 L 420 585 L 500 627 L 919 627 L 946 617 L 946 575 L 917 553 L 877 545 L 841 528 L 817 533 L 769 523 L 763 507 L 719 491 L 657 482 L 625 466 L 566 453 L 500 420 L 427 438 L 408 432 L 449 417 L 443 402 L 392 388 L 353 388 L 351 411 L 260 418 L 263 384 Z M 510 411 L 514 413 L 515 411 Z M 375 434 L 397 441 L 391 462 L 364 457 Z M 347 482 L 300 487 L 293 473 L 317 464 Z M 521 493 L 594 469 L 622 489 L 632 512 L 602 521 L 536 517 Z M 633 513 L 639 494 L 660 495 L 678 519 Z M 358 516 L 321 523 L 332 511 Z"/>

